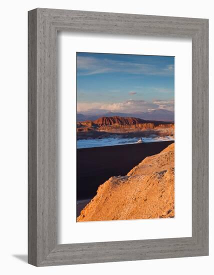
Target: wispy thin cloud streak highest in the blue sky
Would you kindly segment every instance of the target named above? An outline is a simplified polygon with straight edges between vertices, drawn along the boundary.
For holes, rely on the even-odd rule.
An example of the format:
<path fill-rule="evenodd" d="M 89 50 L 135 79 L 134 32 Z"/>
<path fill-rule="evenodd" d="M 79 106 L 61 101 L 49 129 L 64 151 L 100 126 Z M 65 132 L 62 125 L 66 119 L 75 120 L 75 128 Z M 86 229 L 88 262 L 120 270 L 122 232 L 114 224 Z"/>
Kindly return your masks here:
<path fill-rule="evenodd" d="M 77 74 L 92 75 L 109 72 L 123 72 L 129 74 L 146 74 L 169 76 L 174 73 L 173 64 L 159 67 L 155 64 L 137 63 L 132 61 L 118 61 L 108 58 L 99 59 L 92 56 L 78 56 Z"/>

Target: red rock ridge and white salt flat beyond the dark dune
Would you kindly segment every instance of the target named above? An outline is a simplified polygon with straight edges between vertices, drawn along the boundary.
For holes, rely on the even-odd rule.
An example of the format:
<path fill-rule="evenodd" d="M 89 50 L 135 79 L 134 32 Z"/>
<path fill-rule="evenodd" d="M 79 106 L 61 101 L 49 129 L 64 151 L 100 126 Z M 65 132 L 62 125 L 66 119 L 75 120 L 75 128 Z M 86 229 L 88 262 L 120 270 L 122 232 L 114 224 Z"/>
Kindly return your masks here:
<path fill-rule="evenodd" d="M 137 117 L 102 116 L 95 120 L 77 121 L 76 131 L 77 148 L 84 147 L 81 144 L 86 144 L 87 147 L 92 144 L 93 147 L 95 142 L 103 146 L 136 143 L 139 138 L 142 142 L 174 139 L 172 121 L 144 120 Z M 102 139 L 101 142 L 99 139 Z"/>

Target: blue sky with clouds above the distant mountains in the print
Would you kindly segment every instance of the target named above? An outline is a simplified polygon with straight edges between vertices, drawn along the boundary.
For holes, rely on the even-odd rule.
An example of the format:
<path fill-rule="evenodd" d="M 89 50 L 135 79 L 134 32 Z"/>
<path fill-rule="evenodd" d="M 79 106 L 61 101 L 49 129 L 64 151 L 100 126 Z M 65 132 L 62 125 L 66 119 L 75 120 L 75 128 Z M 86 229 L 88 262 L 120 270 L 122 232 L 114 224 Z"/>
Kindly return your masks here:
<path fill-rule="evenodd" d="M 174 108 L 174 57 L 76 53 L 77 112 Z"/>

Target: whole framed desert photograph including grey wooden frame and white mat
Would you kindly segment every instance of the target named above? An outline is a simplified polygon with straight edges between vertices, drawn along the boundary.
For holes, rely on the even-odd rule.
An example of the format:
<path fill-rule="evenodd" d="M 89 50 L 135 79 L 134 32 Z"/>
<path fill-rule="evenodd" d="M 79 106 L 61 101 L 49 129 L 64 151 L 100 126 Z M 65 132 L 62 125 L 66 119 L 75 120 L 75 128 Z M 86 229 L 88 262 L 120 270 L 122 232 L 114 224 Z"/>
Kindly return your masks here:
<path fill-rule="evenodd" d="M 208 255 L 208 19 L 28 12 L 28 262 Z"/>

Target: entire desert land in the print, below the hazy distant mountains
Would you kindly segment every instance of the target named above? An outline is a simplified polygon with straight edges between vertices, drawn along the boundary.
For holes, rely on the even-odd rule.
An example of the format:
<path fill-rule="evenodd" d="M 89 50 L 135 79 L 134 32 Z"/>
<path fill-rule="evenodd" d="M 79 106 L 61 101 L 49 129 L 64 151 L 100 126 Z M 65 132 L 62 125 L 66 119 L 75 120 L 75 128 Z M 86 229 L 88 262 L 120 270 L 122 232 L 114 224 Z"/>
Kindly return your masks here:
<path fill-rule="evenodd" d="M 76 136 L 77 221 L 174 216 L 172 121 L 102 116 Z"/>

